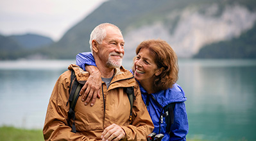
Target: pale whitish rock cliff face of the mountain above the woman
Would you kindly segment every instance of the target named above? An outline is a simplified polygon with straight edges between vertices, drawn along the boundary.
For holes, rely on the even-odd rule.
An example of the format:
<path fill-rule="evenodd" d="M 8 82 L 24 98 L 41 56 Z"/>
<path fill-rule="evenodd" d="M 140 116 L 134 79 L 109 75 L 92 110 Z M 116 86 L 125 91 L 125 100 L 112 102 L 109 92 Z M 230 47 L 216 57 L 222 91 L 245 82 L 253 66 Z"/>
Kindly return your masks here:
<path fill-rule="evenodd" d="M 164 19 L 128 31 L 124 37 L 126 46 L 133 47 L 130 52 L 135 51 L 141 40 L 161 38 L 180 58 L 191 58 L 206 44 L 238 37 L 255 23 L 256 13 L 239 1 L 197 2 L 173 8 L 163 14 Z"/>

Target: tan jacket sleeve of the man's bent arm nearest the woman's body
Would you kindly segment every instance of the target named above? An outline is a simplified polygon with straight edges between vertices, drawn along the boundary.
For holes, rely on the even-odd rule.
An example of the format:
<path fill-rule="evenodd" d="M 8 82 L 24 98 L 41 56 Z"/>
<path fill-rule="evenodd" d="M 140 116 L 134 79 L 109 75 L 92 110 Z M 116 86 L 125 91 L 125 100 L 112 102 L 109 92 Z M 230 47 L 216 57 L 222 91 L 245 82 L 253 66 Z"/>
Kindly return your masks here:
<path fill-rule="evenodd" d="M 122 126 L 126 133 L 124 139 L 127 140 L 146 140 L 147 135 L 154 129 L 153 122 L 148 110 L 142 101 L 139 85 L 134 88 L 135 100 L 133 103 L 132 125 Z"/>

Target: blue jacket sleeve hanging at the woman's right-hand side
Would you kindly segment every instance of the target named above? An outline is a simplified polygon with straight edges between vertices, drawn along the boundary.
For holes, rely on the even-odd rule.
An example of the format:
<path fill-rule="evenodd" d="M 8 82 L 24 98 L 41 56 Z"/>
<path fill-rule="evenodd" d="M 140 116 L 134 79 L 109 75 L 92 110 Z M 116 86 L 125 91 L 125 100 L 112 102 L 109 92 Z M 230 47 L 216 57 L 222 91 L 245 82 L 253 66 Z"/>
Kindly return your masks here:
<path fill-rule="evenodd" d="M 170 140 L 186 140 L 186 135 L 189 131 L 189 122 L 187 120 L 184 102 L 175 104 L 174 114 L 175 120 L 171 125 L 173 136 L 170 137 Z"/>

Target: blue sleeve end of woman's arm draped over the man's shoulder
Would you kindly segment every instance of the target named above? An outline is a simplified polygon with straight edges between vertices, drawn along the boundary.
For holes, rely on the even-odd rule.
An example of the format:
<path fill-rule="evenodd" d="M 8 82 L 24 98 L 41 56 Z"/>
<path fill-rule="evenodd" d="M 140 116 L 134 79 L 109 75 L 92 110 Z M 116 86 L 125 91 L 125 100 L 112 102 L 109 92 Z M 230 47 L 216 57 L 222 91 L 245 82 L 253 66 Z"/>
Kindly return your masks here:
<path fill-rule="evenodd" d="M 94 57 L 92 56 L 92 53 L 84 52 L 76 55 L 76 65 L 78 65 L 83 70 L 85 70 L 85 65 L 96 66 L 96 63 L 95 63 Z"/>

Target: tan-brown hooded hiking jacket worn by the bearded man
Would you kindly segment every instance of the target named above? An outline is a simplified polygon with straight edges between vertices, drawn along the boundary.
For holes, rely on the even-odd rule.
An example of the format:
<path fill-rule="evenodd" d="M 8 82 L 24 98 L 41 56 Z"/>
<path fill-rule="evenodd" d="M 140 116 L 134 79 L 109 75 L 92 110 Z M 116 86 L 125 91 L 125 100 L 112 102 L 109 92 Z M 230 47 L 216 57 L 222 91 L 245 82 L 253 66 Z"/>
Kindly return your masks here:
<path fill-rule="evenodd" d="M 49 99 L 43 129 L 45 140 L 101 140 L 101 133 L 111 124 L 117 124 L 124 129 L 126 135 L 123 140 L 146 140 L 146 136 L 153 131 L 154 126 L 142 101 L 137 81 L 123 67 L 115 69 L 108 90 L 102 81 L 101 97 L 96 99 L 94 106 L 89 104 L 85 106 L 81 96 L 78 98 L 74 109 L 77 132 L 71 132 L 71 127 L 67 123 L 71 70 L 74 70 L 80 83 L 85 83 L 89 73 L 73 64 L 69 65 L 68 69 L 56 81 Z M 132 109 L 132 125 L 130 125 L 130 101 L 123 87 L 132 86 L 134 86 L 135 100 Z"/>

